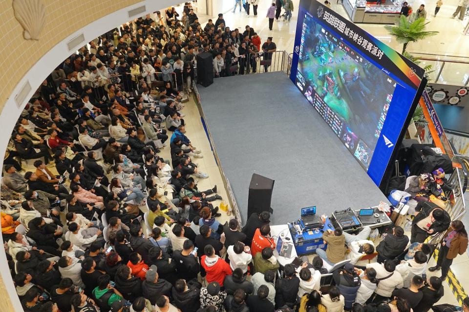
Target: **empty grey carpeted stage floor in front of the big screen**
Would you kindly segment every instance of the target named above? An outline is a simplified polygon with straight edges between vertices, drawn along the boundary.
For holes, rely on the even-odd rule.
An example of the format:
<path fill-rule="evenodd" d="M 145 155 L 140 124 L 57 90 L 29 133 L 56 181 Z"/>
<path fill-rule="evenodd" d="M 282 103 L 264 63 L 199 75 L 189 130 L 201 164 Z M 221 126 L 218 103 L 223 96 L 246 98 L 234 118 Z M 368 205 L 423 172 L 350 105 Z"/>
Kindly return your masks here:
<path fill-rule="evenodd" d="M 206 123 L 243 222 L 253 173 L 275 180 L 272 224 L 366 208 L 386 197 L 285 74 L 214 79 L 198 88 Z"/>

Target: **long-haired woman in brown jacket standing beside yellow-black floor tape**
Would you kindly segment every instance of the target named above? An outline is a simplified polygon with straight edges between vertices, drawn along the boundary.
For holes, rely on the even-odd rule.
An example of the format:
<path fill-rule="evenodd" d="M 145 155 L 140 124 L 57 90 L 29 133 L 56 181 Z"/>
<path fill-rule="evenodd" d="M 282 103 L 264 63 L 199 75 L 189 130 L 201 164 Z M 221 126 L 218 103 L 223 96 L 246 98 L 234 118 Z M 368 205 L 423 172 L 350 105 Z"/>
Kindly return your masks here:
<path fill-rule="evenodd" d="M 449 267 L 453 263 L 453 259 L 458 254 L 464 254 L 468 249 L 468 233 L 466 227 L 460 220 L 451 222 L 445 238 L 440 245 L 438 251 L 438 260 L 436 266 L 428 268 L 428 271 L 434 272 L 441 269 L 441 279 L 445 279 L 449 272 Z"/>

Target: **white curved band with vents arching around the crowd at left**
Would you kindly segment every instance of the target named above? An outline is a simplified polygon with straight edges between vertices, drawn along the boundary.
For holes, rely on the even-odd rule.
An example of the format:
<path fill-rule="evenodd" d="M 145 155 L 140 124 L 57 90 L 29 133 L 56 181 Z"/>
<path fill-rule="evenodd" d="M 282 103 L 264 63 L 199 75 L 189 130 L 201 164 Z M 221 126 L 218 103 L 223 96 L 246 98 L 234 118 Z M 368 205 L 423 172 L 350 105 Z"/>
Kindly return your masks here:
<path fill-rule="evenodd" d="M 163 10 L 168 6 L 179 3 L 184 2 L 182 0 L 144 0 L 135 3 L 126 8 L 110 13 L 99 20 L 95 20 L 92 23 L 89 23 L 82 29 L 70 34 L 67 38 L 56 44 L 49 52 L 47 52 L 41 59 L 39 59 L 36 64 L 31 67 L 31 69 L 26 73 L 23 78 L 21 78 L 20 82 L 15 86 L 12 94 L 8 97 L 7 101 L 5 102 L 3 110 L 0 114 L 0 151 L 2 153 L 1 155 L 4 155 L 6 151 L 6 146 L 10 139 L 13 127 L 15 126 L 18 118 L 20 117 L 21 111 L 23 110 L 27 101 L 33 96 L 34 92 L 41 85 L 43 80 L 47 78 L 47 76 L 49 76 L 52 70 L 73 53 L 68 50 L 67 42 L 69 42 L 71 39 L 76 38 L 80 34 L 84 34 L 84 43 L 80 44 L 77 47 L 78 49 L 80 46 L 84 45 L 85 42 L 89 42 L 95 39 L 96 37 L 106 33 L 114 27 L 119 27 L 121 24 L 128 22 L 129 20 L 135 19 L 138 16 L 145 16 L 146 14 L 152 13 L 157 10 Z M 128 11 L 134 8 L 141 7 L 142 5 L 146 6 L 146 12 L 143 12 L 138 16 L 129 18 Z M 32 53 L 34 52 L 32 51 Z M 27 94 L 23 94 L 22 97 L 24 98 L 24 100 L 21 103 L 17 104 L 15 98 L 17 98 L 17 95 L 21 92 L 21 90 L 23 90 L 23 87 L 27 83 L 29 83 L 29 85 L 31 86 L 30 91 Z M 0 157 L 0 165 L 3 165 L 3 157 Z M 2 240 L 2 238 L 0 239 Z M 2 268 L 7 268 L 7 259 L 3 249 L 0 252 L 0 266 Z M 15 286 L 13 284 L 13 280 L 11 278 L 9 270 L 0 270 L 0 274 L 5 284 L 6 291 L 8 292 L 8 296 L 10 297 L 11 302 L 15 308 L 15 311 L 22 311 L 21 303 L 18 299 L 18 295 L 16 293 Z M 0 310 L 3 310 L 3 308 L 0 308 Z"/>

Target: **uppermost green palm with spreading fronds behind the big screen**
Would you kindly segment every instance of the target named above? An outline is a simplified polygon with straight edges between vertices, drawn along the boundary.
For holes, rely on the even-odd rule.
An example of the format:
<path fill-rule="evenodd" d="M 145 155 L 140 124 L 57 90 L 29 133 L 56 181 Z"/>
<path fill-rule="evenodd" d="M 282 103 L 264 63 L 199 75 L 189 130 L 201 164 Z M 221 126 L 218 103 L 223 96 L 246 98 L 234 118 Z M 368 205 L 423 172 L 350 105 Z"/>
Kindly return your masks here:
<path fill-rule="evenodd" d="M 426 31 L 425 27 L 427 24 L 428 22 L 425 22 L 424 18 L 410 22 L 404 15 L 401 15 L 399 22 L 395 26 L 386 25 L 384 28 L 386 28 L 392 37 L 396 38 L 397 42 L 404 44 L 402 48 L 402 53 L 404 54 L 409 42 L 416 42 L 439 33 L 437 31 Z"/>

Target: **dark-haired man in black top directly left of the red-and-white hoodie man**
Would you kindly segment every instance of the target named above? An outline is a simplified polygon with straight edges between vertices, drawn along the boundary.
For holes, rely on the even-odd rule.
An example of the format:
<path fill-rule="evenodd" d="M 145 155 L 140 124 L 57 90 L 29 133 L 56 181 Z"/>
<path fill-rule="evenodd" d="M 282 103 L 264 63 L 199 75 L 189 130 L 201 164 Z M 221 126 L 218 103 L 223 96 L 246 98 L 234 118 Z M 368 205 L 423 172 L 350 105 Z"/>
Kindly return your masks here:
<path fill-rule="evenodd" d="M 186 280 L 197 279 L 197 274 L 200 272 L 200 264 L 197 257 L 192 254 L 194 244 L 191 240 L 186 239 L 183 244 L 183 250 L 175 250 L 172 254 L 172 260 L 176 264 L 176 271 L 178 278 Z"/>

